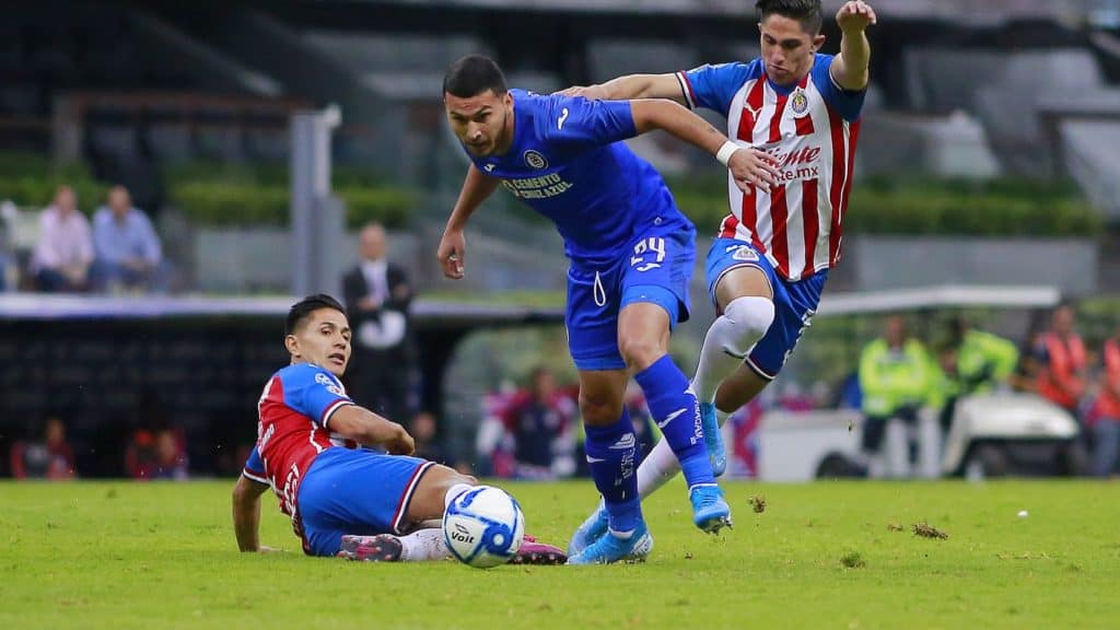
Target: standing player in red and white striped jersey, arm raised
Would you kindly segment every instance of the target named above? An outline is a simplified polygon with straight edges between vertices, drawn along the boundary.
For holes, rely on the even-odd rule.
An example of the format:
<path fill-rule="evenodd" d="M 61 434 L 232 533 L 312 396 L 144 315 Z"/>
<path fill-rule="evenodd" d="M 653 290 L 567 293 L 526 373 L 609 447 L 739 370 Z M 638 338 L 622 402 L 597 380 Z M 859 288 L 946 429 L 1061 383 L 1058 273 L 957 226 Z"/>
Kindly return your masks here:
<path fill-rule="evenodd" d="M 720 161 L 749 151 L 763 164 L 756 180 L 728 178 L 730 213 L 708 254 L 708 286 L 720 316 L 704 339 L 692 387 L 717 471 L 726 467 L 718 424 L 777 376 L 840 260 L 869 78 L 865 30 L 876 22 L 867 2 L 844 3 L 836 15 L 840 54 L 832 56 L 818 52 L 824 44 L 820 0 L 758 0 L 756 8 L 762 55 L 752 62 L 564 91 L 589 99 L 672 99 L 717 111 L 727 117 L 731 138 Z M 650 494 L 675 470 L 672 453 L 659 444 L 638 470 L 638 491 Z"/>

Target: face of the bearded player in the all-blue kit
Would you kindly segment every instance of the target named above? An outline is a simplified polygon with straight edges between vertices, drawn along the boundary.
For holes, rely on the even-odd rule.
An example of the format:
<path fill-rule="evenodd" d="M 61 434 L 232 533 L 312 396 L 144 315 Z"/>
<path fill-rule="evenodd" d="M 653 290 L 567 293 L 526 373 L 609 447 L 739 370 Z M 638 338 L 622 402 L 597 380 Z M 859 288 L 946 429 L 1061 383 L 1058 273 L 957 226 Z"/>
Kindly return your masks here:
<path fill-rule="evenodd" d="M 451 130 L 472 155 L 489 157 L 510 148 L 513 139 L 513 96 L 493 90 L 463 99 L 444 94 L 444 109 Z"/>

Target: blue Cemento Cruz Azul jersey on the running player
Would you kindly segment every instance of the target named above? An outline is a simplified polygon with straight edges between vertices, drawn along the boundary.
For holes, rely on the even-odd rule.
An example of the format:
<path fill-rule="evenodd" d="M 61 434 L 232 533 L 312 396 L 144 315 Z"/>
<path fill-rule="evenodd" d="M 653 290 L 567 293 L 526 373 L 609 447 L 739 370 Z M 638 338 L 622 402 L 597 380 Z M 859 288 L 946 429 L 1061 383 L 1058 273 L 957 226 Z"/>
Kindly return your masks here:
<path fill-rule="evenodd" d="M 486 175 L 549 217 L 575 262 L 628 254 L 654 225 L 689 225 L 661 175 L 620 140 L 637 136 L 626 101 L 513 95 L 513 145 L 468 156 Z"/>

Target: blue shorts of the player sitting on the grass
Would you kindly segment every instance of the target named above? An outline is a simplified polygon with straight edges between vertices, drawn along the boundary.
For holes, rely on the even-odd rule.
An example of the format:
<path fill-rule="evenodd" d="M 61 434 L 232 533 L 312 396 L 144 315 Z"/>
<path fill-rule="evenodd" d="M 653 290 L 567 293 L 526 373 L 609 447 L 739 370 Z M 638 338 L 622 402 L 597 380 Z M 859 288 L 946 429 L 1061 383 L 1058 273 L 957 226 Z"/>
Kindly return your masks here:
<path fill-rule="evenodd" d="M 409 503 L 435 462 L 364 448 L 327 448 L 299 484 L 304 548 L 334 556 L 344 534 L 401 534 Z"/>

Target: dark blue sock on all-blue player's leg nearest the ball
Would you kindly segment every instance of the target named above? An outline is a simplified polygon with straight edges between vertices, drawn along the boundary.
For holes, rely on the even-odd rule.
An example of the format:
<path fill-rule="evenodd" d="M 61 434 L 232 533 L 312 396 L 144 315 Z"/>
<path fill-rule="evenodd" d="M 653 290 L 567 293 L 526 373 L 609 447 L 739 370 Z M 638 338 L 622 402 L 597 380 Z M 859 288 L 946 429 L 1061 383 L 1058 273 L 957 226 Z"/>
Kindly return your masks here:
<path fill-rule="evenodd" d="M 584 451 L 595 487 L 603 494 L 610 529 L 632 531 L 642 521 L 642 500 L 637 494 L 637 436 L 629 413 L 605 427 L 588 425 Z"/>

